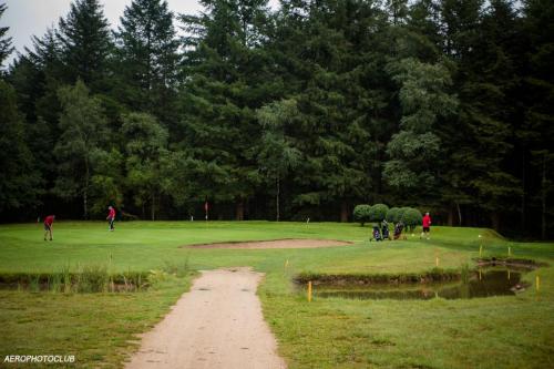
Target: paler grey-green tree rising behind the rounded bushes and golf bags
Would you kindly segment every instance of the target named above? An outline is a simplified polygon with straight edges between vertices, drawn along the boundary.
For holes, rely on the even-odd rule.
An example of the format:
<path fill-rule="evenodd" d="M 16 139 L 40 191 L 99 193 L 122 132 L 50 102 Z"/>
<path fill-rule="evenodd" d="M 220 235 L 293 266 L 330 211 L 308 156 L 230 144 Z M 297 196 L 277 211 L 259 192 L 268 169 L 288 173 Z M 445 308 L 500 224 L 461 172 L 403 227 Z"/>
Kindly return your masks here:
<path fill-rule="evenodd" d="M 456 106 L 455 98 L 448 91 L 452 83 L 450 73 L 443 65 L 414 59 L 403 59 L 389 69 L 401 85 L 403 116 L 401 131 L 387 146 L 390 160 L 384 165 L 384 176 L 403 198 L 414 196 L 429 202 L 439 184 L 440 119 L 451 116 Z"/>

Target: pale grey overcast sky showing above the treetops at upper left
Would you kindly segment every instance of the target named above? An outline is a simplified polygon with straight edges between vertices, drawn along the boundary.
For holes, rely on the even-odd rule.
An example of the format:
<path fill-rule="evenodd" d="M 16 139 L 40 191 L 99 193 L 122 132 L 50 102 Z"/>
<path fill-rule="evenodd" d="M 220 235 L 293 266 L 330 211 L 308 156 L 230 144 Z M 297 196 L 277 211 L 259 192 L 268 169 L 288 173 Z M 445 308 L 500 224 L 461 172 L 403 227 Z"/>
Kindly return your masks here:
<path fill-rule="evenodd" d="M 48 27 L 57 25 L 60 17 L 65 17 L 70 9 L 71 0 L 0 0 L 8 9 L 0 19 L 0 25 L 9 27 L 8 35 L 12 37 L 13 47 L 23 52 L 23 47 L 31 44 L 31 37 L 42 37 Z M 131 0 L 101 0 L 104 4 L 104 13 L 112 28 L 119 24 L 123 9 Z M 195 13 L 202 7 L 197 0 L 167 0 L 170 9 L 175 13 Z M 278 0 L 269 0 L 276 7 Z M 17 55 L 11 54 L 9 63 Z M 4 65 L 7 65 L 6 63 Z"/>

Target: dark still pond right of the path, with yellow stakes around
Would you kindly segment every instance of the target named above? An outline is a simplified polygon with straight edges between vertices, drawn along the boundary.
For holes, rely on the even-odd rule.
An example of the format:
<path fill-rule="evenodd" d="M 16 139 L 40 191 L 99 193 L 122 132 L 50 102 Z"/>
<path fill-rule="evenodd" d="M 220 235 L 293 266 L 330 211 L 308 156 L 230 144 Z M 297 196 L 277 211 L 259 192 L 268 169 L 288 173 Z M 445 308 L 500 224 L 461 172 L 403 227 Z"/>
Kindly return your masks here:
<path fill-rule="evenodd" d="M 465 281 L 422 285 L 315 286 L 314 298 L 349 299 L 445 299 L 510 296 L 523 290 L 521 273 L 513 270 L 476 271 Z"/>

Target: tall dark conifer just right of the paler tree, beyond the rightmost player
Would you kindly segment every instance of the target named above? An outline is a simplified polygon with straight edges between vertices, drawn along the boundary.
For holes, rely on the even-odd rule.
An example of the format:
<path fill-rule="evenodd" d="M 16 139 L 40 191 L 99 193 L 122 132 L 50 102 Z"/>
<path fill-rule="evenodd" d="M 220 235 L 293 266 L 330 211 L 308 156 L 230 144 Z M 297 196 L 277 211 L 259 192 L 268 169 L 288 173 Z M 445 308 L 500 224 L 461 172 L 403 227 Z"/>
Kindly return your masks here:
<path fill-rule="evenodd" d="M 509 96 L 514 68 L 502 44 L 503 32 L 511 32 L 515 24 L 513 13 L 501 17 L 500 9 L 496 2 L 488 18 L 483 2 L 478 0 L 444 1 L 442 8 L 445 51 L 456 64 L 454 86 L 460 99 L 458 122 L 451 127 L 460 140 L 452 157 L 463 163 L 466 171 L 462 182 L 469 184 L 470 194 L 490 215 L 495 229 L 501 226 L 502 213 L 517 209 L 513 198 L 521 195 L 509 163 L 513 150 Z M 489 24 L 484 22 L 488 19 Z M 462 167 L 455 171 L 463 173 Z"/>

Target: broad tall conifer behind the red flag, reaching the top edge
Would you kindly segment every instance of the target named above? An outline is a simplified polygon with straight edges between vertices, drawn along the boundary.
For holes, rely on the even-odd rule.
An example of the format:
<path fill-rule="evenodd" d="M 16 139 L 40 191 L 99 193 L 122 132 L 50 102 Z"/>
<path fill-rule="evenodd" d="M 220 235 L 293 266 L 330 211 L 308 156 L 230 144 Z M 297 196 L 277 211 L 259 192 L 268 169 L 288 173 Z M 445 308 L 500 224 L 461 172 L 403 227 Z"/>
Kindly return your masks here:
<path fill-rule="evenodd" d="M 267 1 L 202 3 L 205 13 L 182 18 L 192 32 L 185 39 L 182 146 L 199 165 L 199 177 L 209 168 L 222 174 L 209 186 L 207 197 L 234 202 L 236 218 L 243 219 L 245 205 L 259 183 L 255 154 L 249 150 L 260 135 L 255 110 L 273 95 L 266 68 L 260 64 L 265 55 L 253 41 L 263 39 L 257 14 L 264 12 Z"/>

